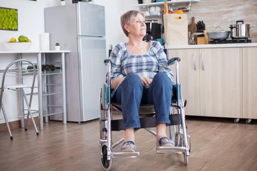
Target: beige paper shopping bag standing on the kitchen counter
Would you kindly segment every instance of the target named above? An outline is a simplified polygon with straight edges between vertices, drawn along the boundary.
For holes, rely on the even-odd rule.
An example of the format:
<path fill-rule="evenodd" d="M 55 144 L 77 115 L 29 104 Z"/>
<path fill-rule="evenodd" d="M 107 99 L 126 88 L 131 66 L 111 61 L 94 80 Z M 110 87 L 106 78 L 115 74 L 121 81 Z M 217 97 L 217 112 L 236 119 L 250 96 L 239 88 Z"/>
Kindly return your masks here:
<path fill-rule="evenodd" d="M 164 39 L 167 45 L 187 45 L 187 32 L 187 14 L 164 14 Z"/>

